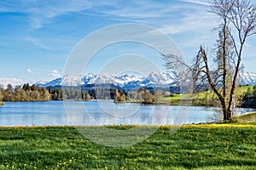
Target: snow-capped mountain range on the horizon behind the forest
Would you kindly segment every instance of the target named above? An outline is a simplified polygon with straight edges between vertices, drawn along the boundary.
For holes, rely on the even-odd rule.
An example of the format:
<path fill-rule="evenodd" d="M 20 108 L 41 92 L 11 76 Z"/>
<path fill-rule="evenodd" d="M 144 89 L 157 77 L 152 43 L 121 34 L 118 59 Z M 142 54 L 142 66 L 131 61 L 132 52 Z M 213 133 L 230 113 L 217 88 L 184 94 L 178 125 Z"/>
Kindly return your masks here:
<path fill-rule="evenodd" d="M 37 82 L 38 87 L 84 87 L 89 85 L 102 85 L 111 84 L 119 88 L 134 89 L 141 87 L 176 87 L 178 85 L 179 78 L 177 73 L 174 71 L 164 72 L 151 72 L 148 77 L 138 77 L 135 75 L 120 75 L 110 76 L 108 74 L 88 74 L 85 76 L 64 76 L 57 78 L 50 82 Z M 256 85 L 256 73 L 252 72 L 241 72 L 239 75 L 238 84 L 241 86 L 245 85 Z"/>

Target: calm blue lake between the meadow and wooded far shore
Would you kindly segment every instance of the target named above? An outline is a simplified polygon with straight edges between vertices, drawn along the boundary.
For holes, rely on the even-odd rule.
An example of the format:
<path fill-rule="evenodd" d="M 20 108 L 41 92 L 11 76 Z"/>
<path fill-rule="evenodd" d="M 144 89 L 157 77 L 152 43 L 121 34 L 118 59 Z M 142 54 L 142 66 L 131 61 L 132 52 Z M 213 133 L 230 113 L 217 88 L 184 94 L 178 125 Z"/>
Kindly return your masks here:
<path fill-rule="evenodd" d="M 0 126 L 32 125 L 180 125 L 212 122 L 216 108 L 195 106 L 114 104 L 113 100 L 5 102 Z M 238 109 L 241 112 L 256 111 Z"/>

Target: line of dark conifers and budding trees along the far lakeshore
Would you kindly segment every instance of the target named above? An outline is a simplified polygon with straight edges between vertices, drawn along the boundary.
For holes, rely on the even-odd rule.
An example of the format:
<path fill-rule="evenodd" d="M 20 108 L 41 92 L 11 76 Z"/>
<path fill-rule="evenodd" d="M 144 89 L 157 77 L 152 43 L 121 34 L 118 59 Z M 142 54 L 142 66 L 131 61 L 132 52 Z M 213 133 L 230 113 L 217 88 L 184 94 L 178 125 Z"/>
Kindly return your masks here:
<path fill-rule="evenodd" d="M 209 91 L 208 91 L 209 92 Z M 208 99 L 207 92 L 201 95 L 202 99 L 193 99 L 195 105 L 217 106 L 218 99 L 211 97 Z M 211 92 L 209 92 L 211 95 Z M 23 86 L 12 87 L 11 84 L 6 89 L 0 88 L 0 101 L 48 101 L 48 100 L 90 100 L 90 99 L 113 99 L 114 102 L 139 102 L 142 104 L 160 104 L 163 97 L 172 96 L 166 90 L 152 91 L 146 88 L 134 90 L 124 89 L 91 89 L 85 91 L 79 88 L 41 88 L 28 83 Z M 206 97 L 206 99 L 205 99 Z M 242 94 L 241 107 L 256 108 L 256 86 L 248 87 L 247 92 Z"/>

